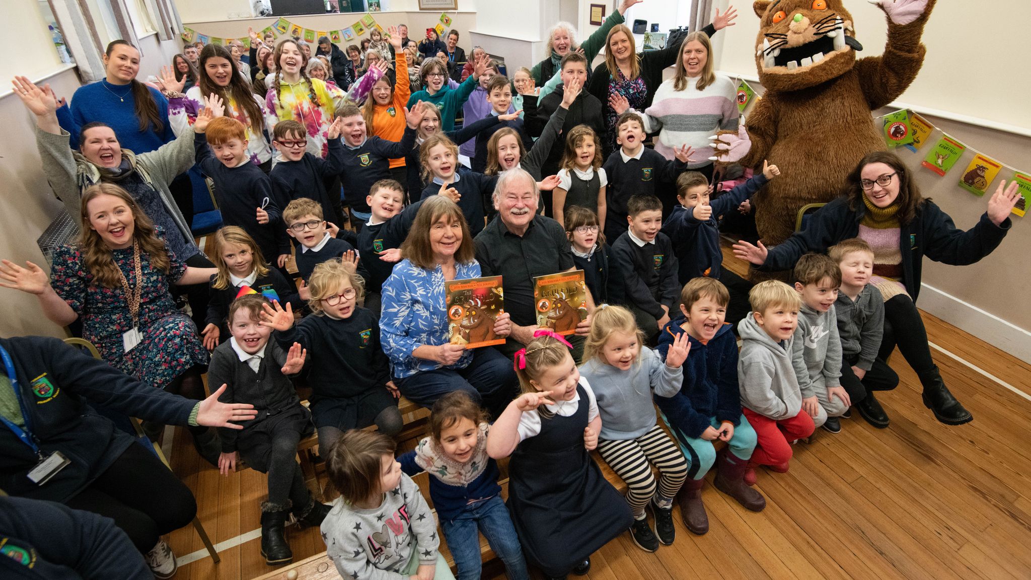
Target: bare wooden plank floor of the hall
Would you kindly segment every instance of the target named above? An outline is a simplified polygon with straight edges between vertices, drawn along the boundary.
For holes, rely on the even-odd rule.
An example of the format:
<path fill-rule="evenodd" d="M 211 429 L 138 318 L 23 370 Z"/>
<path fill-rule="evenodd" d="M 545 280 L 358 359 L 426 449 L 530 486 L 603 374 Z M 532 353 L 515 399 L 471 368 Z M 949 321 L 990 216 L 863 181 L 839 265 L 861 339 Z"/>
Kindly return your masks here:
<path fill-rule="evenodd" d="M 1031 393 L 1031 365 L 933 316 L 924 314 L 924 321 L 933 344 Z M 676 510 L 672 546 L 650 554 L 624 534 L 592 557 L 588 578 L 1031 578 L 1031 400 L 938 350 L 932 354 L 950 389 L 973 413 L 972 423 L 935 421 L 896 352 L 891 362 L 901 384 L 877 395 L 890 428 L 875 429 L 854 413 L 838 434 L 818 429 L 810 443 L 796 446 L 789 473 L 759 473 L 765 511 L 747 512 L 707 485 L 708 535 L 687 531 Z M 197 496 L 212 542 L 260 527 L 262 474 L 221 477 L 197 457 L 184 429 L 176 429 L 172 465 Z M 315 529 L 292 527 L 289 540 L 295 561 L 325 550 Z M 180 558 L 203 549 L 192 526 L 169 541 Z M 181 566 L 176 578 L 269 573 L 259 542 L 221 550 L 219 565 L 205 555 Z M 493 574 L 504 578 L 497 567 Z"/>

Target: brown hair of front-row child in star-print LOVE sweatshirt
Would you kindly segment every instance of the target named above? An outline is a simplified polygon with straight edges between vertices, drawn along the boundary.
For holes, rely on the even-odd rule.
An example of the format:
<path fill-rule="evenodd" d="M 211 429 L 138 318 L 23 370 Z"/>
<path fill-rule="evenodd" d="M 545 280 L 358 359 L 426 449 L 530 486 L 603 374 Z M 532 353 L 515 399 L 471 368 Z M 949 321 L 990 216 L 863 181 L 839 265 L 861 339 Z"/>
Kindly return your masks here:
<path fill-rule="evenodd" d="M 340 496 L 348 504 L 366 502 L 390 491 L 383 487 L 384 455 L 394 456 L 397 443 L 379 431 L 344 431 L 326 450 L 326 475 Z"/>

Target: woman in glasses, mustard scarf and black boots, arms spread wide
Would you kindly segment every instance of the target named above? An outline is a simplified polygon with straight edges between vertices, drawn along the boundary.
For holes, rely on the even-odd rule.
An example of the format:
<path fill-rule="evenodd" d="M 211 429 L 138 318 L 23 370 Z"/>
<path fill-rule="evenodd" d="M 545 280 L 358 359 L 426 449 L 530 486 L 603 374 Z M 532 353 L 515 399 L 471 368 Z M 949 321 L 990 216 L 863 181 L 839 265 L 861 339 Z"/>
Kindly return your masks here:
<path fill-rule="evenodd" d="M 824 253 L 844 239 L 864 239 L 873 250 L 872 271 L 865 276 L 865 283 L 876 288 L 885 300 L 885 329 L 877 358 L 888 360 L 898 346 L 924 388 L 924 406 L 938 421 L 960 425 L 973 417 L 949 392 L 931 358 L 927 330 L 916 307 L 921 267 L 924 256 L 966 265 L 991 254 L 1009 231 L 1009 212 L 1020 199 L 1017 182 L 1008 188 L 1001 182 L 989 198 L 988 212 L 963 231 L 933 201 L 921 196 L 901 159 L 894 153 L 876 151 L 867 154 L 849 175 L 843 195 L 813 214 L 805 229 L 769 250 L 762 241 L 758 246 L 738 241 L 734 254 L 760 269 L 784 270 L 806 252 Z M 861 381 L 866 372 L 857 368 L 843 364 L 842 382 L 850 376 Z M 888 414 L 872 392 L 852 400 L 870 424 L 888 426 Z"/>

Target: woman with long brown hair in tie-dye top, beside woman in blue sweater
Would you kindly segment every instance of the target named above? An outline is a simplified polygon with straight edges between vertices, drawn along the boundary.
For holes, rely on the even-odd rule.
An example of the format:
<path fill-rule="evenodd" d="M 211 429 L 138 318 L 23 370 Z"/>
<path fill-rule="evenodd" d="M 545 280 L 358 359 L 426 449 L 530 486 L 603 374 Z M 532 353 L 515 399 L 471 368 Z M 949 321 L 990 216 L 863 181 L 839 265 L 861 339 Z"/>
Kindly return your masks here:
<path fill-rule="evenodd" d="M 219 95 L 226 105 L 225 116 L 247 128 L 247 155 L 251 162 L 266 173 L 272 169 L 272 147 L 265 138 L 265 99 L 252 92 L 251 84 L 238 73 L 230 52 L 219 44 L 208 44 L 200 52 L 200 77 L 197 86 L 182 94 L 182 86 L 162 70 L 165 88 L 169 90 L 168 118 L 178 135 L 190 128 L 204 108 L 204 99 Z"/>

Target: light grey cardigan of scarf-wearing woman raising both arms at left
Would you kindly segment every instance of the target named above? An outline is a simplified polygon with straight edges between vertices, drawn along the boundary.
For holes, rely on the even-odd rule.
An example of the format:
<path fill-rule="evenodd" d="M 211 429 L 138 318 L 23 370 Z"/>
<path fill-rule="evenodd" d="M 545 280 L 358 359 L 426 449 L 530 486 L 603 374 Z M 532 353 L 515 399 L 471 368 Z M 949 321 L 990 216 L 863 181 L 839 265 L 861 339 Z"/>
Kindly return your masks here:
<path fill-rule="evenodd" d="M 81 215 L 79 200 L 82 198 L 82 192 L 94 183 L 79 185 L 76 178 L 78 167 L 76 167 L 75 158 L 69 148 L 70 139 L 71 135 L 64 129 L 61 130 L 60 135 L 55 135 L 36 127 L 36 146 L 39 148 L 39 156 L 42 158 L 46 181 L 49 182 L 55 195 L 64 203 L 68 214 L 78 222 Z M 182 238 L 188 245 L 194 246 L 190 222 L 182 219 L 182 214 L 179 213 L 175 199 L 168 190 L 168 184 L 172 183 L 176 175 L 193 167 L 194 131 L 192 128 L 190 131 L 184 131 L 179 134 L 174 141 L 165 143 L 156 151 L 137 155 L 136 164 L 149 176 L 151 187 L 161 196 L 165 211 L 182 232 Z M 193 216 L 190 218 L 192 219 Z"/>

